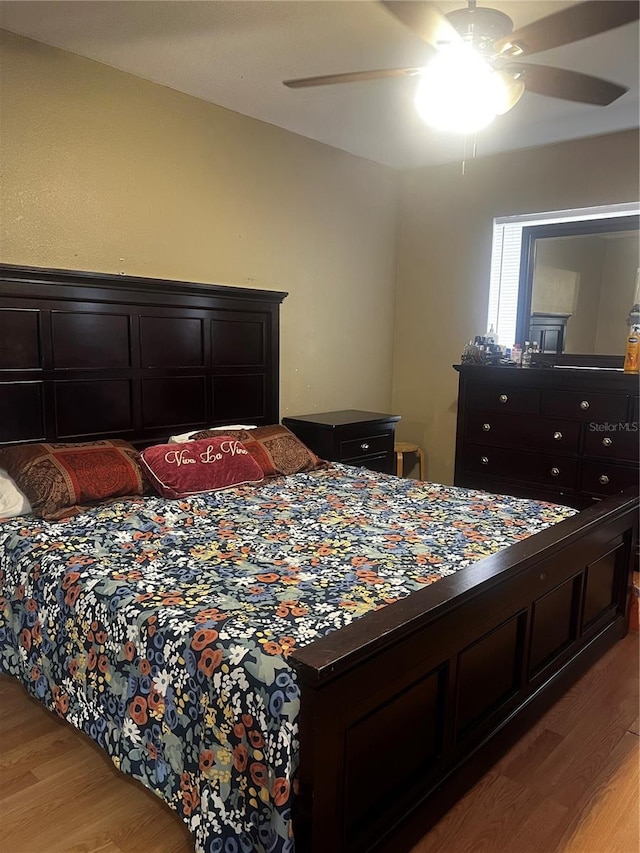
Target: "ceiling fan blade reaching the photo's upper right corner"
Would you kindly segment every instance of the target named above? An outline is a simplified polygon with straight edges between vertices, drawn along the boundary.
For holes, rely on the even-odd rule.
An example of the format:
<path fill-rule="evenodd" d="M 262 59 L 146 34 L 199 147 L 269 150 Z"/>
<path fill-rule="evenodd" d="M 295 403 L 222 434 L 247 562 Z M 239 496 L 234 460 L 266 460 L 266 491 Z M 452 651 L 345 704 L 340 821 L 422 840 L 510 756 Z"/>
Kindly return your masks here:
<path fill-rule="evenodd" d="M 539 53 L 637 21 L 639 15 L 637 0 L 588 0 L 514 30 L 493 47 L 503 56 Z"/>

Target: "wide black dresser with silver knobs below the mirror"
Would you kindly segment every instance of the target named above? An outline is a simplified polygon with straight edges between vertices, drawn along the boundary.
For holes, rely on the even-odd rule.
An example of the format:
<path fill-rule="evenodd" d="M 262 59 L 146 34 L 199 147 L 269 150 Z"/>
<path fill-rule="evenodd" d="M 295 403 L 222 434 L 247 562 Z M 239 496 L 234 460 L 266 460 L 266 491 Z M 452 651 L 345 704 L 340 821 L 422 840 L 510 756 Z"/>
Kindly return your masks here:
<path fill-rule="evenodd" d="M 638 485 L 638 376 L 455 365 L 455 484 L 582 509 Z"/>

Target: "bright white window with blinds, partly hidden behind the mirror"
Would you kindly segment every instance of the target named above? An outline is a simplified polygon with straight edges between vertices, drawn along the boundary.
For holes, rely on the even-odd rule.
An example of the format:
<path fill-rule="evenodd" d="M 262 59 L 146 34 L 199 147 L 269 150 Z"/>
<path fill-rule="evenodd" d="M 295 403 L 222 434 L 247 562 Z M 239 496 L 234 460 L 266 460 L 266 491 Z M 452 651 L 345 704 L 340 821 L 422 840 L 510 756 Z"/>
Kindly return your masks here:
<path fill-rule="evenodd" d="M 501 216 L 494 219 L 487 329 L 493 326 L 503 346 L 510 347 L 515 340 L 523 228 L 528 225 L 626 216 L 629 213 L 637 213 L 639 207 L 636 202 L 630 202 L 603 207 L 586 207 L 581 210 Z"/>

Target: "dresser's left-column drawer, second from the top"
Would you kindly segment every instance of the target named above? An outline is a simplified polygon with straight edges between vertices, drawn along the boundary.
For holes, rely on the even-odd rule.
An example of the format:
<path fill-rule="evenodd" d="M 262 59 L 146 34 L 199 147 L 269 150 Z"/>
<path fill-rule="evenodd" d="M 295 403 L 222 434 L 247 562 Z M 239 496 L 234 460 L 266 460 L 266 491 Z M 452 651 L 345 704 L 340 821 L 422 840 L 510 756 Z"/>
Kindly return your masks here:
<path fill-rule="evenodd" d="M 580 428 L 577 421 L 472 409 L 467 415 L 466 437 L 474 444 L 576 455 Z"/>

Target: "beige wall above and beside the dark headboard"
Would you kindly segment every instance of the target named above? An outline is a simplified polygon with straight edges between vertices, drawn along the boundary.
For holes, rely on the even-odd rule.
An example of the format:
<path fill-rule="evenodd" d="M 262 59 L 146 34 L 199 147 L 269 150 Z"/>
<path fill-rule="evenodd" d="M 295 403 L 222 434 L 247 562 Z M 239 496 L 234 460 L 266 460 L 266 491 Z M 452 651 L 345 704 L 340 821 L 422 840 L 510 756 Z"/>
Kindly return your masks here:
<path fill-rule="evenodd" d="M 0 38 L 3 262 L 289 291 L 282 415 L 388 408 L 395 172 Z"/>

